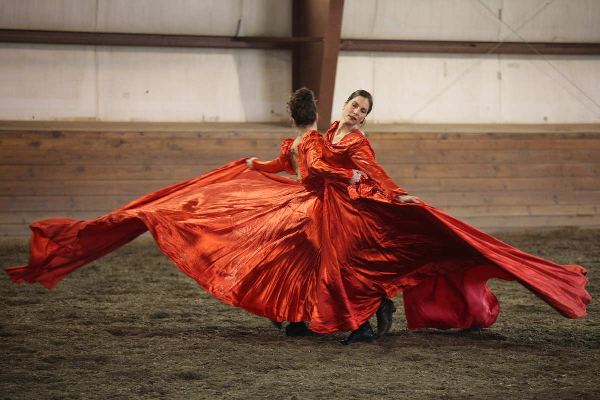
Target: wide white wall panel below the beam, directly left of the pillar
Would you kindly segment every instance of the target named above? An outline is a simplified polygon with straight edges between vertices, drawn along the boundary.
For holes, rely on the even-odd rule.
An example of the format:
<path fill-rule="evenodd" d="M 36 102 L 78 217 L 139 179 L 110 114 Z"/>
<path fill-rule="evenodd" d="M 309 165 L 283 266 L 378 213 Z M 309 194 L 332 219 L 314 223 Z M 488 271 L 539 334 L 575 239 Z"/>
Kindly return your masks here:
<path fill-rule="evenodd" d="M 99 50 L 102 121 L 285 121 L 289 52 Z"/>

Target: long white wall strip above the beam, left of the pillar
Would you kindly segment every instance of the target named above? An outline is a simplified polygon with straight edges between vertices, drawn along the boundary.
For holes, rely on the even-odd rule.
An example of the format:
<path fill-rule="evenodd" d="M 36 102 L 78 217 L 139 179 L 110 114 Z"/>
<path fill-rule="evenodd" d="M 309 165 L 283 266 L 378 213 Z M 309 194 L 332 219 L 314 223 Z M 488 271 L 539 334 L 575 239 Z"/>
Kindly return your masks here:
<path fill-rule="evenodd" d="M 291 0 L 1 0 L 0 29 L 286 37 Z"/>

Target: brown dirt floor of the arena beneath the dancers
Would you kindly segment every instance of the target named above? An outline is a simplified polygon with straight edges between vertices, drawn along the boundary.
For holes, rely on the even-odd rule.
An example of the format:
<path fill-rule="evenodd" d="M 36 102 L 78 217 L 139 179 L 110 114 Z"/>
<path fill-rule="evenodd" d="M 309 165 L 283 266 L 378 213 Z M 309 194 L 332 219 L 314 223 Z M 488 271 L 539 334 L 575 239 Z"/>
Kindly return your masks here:
<path fill-rule="evenodd" d="M 0 399 L 600 399 L 600 230 L 496 236 L 589 269 L 590 316 L 493 280 L 489 329 L 409 331 L 398 307 L 372 344 L 286 338 L 142 237 L 54 290 L 0 278 Z M 27 259 L 23 240 L 0 243 L 2 267 Z"/>

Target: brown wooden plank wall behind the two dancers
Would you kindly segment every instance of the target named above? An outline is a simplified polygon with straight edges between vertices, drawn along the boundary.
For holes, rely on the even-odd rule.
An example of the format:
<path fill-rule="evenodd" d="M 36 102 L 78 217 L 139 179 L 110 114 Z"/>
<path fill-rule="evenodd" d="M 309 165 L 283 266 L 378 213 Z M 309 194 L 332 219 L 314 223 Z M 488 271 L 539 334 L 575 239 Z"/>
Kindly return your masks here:
<path fill-rule="evenodd" d="M 600 227 L 600 125 L 366 129 L 400 187 L 484 231 Z M 271 160 L 267 124 L 0 123 L 0 236 L 91 219 L 242 157 Z"/>

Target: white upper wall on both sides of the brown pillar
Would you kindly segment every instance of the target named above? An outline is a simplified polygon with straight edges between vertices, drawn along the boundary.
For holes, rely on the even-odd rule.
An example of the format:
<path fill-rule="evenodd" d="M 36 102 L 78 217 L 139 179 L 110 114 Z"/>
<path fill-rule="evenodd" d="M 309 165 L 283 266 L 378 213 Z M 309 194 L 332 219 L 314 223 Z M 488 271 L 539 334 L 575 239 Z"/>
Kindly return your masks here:
<path fill-rule="evenodd" d="M 291 4 L 5 0 L 0 27 L 286 37 Z M 346 0 L 342 38 L 598 43 L 599 25 L 595 0 Z M 2 44 L 0 58 L 2 120 L 280 122 L 292 88 L 287 51 Z M 598 71 L 598 56 L 341 52 L 332 118 L 364 88 L 378 123 L 595 123 Z"/>

